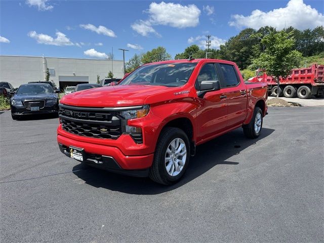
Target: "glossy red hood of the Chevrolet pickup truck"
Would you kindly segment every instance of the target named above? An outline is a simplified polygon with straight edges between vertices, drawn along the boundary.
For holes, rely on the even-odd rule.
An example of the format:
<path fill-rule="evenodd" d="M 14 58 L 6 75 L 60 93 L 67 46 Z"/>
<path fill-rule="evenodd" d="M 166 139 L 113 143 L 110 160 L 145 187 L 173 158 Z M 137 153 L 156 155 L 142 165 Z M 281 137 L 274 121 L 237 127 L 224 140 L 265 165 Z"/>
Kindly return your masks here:
<path fill-rule="evenodd" d="M 143 105 L 146 97 L 172 91 L 152 85 L 117 85 L 78 91 L 63 96 L 60 103 L 84 107 L 121 107 Z"/>

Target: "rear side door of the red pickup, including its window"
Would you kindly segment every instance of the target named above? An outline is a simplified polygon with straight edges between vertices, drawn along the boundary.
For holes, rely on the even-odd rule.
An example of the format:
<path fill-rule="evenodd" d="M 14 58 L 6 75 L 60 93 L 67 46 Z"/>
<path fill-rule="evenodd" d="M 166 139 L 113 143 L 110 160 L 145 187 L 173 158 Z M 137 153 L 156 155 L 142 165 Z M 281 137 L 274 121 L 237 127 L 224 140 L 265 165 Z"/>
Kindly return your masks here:
<path fill-rule="evenodd" d="M 221 87 L 225 93 L 228 105 L 227 129 L 243 123 L 247 116 L 247 91 L 231 64 L 217 63 L 217 70 L 221 75 Z"/>

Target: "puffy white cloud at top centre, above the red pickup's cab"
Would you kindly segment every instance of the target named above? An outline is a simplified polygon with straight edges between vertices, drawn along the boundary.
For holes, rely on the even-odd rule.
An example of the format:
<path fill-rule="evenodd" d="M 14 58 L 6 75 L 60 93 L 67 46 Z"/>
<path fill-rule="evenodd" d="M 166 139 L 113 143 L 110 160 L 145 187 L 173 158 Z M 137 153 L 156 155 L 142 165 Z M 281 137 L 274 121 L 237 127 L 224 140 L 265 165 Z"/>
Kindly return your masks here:
<path fill-rule="evenodd" d="M 147 12 L 153 24 L 186 28 L 195 27 L 199 23 L 200 10 L 193 4 L 151 3 Z"/>

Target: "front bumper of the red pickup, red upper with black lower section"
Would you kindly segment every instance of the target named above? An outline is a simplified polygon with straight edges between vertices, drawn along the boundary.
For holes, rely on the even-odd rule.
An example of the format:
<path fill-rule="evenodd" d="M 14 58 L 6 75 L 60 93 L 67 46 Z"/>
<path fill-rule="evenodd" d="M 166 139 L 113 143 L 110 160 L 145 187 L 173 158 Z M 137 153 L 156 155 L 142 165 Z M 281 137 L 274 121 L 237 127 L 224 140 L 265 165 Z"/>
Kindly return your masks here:
<path fill-rule="evenodd" d="M 86 164 L 119 174 L 146 177 L 148 175 L 148 168 L 151 167 L 153 162 L 153 153 L 146 155 L 125 155 L 118 147 L 83 142 L 65 137 L 61 134 L 57 135 L 57 141 L 60 150 L 65 155 L 69 156 L 69 153 L 64 150 L 67 150 L 70 146 L 83 148 Z M 93 156 L 100 157 L 102 163 L 96 163 L 91 159 L 89 160 Z"/>

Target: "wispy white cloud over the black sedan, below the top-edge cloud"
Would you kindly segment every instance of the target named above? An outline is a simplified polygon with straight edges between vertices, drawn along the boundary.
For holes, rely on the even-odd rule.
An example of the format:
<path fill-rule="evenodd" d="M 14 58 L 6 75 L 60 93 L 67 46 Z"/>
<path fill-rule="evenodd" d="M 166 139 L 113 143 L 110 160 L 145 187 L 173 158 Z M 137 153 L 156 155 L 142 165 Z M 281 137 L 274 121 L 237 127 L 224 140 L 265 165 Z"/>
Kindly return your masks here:
<path fill-rule="evenodd" d="M 34 38 L 37 43 L 53 46 L 73 46 L 74 44 L 70 41 L 66 35 L 60 31 L 56 32 L 56 38 L 53 38 L 47 34 L 38 34 L 36 31 L 30 31 L 28 36 Z"/>

